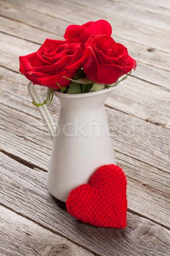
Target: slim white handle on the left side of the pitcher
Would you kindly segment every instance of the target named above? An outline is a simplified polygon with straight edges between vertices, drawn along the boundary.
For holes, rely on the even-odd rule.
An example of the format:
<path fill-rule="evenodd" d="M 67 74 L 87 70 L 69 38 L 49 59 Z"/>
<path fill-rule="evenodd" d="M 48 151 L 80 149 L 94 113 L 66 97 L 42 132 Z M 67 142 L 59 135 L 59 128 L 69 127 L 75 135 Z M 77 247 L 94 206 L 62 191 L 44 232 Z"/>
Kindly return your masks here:
<path fill-rule="evenodd" d="M 28 93 L 31 96 L 31 98 L 34 99 L 34 102 L 40 103 L 40 104 L 43 103 L 39 93 L 36 90 L 35 85 L 31 81 L 28 83 Z M 55 128 L 54 122 L 50 116 L 50 113 L 48 112 L 47 107 L 45 105 L 39 106 L 39 107 L 37 107 L 37 109 L 39 110 L 39 112 L 42 116 L 42 119 L 44 120 L 44 122 L 47 126 L 47 129 L 51 136 L 51 139 L 53 141 L 56 128 Z"/>

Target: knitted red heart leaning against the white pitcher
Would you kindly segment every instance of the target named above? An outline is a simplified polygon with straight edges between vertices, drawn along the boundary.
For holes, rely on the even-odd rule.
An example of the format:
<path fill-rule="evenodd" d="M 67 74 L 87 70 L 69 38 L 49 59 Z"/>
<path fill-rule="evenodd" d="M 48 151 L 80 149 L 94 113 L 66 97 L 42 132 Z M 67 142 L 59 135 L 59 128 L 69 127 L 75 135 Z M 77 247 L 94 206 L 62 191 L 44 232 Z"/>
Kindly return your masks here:
<path fill-rule="evenodd" d="M 126 227 L 126 177 L 119 166 L 101 166 L 88 184 L 72 190 L 66 201 L 75 218 L 98 227 Z"/>

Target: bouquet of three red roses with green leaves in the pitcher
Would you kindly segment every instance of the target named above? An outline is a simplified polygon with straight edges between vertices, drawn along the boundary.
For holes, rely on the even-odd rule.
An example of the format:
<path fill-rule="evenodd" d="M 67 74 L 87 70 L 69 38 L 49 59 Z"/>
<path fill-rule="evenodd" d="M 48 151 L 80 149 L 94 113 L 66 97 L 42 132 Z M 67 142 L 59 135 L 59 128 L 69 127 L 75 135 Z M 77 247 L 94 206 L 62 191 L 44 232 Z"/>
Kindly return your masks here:
<path fill-rule="evenodd" d="M 64 41 L 46 39 L 37 52 L 20 56 L 20 72 L 33 84 L 48 87 L 43 104 L 51 102 L 54 90 L 88 93 L 115 86 L 136 68 L 136 61 L 111 33 L 106 20 L 70 25 Z"/>

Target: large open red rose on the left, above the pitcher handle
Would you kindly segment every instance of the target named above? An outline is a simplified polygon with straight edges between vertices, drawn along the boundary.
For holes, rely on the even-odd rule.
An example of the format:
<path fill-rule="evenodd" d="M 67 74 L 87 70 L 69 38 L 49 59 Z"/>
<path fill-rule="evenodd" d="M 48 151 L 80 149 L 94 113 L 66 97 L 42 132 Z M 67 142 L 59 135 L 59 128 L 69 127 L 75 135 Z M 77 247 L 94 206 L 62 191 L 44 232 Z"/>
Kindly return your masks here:
<path fill-rule="evenodd" d="M 19 57 L 20 72 L 33 84 L 59 89 L 70 84 L 77 70 L 82 67 L 83 44 L 46 39 L 44 44 L 26 56 Z"/>

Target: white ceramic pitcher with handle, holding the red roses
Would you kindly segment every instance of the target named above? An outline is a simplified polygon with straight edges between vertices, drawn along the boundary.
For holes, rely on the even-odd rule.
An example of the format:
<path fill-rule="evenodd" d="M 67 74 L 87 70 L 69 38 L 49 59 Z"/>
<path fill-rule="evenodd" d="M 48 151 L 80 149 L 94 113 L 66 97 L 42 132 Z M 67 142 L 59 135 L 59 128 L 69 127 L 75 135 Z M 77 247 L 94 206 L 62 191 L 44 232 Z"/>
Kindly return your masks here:
<path fill-rule="evenodd" d="M 57 125 L 45 105 L 37 107 L 53 140 L 47 187 L 55 198 L 66 202 L 71 190 L 88 183 L 96 169 L 116 164 L 104 102 L 120 85 L 81 94 L 54 90 L 60 102 Z M 42 103 L 32 82 L 28 92 L 34 102 Z"/>

